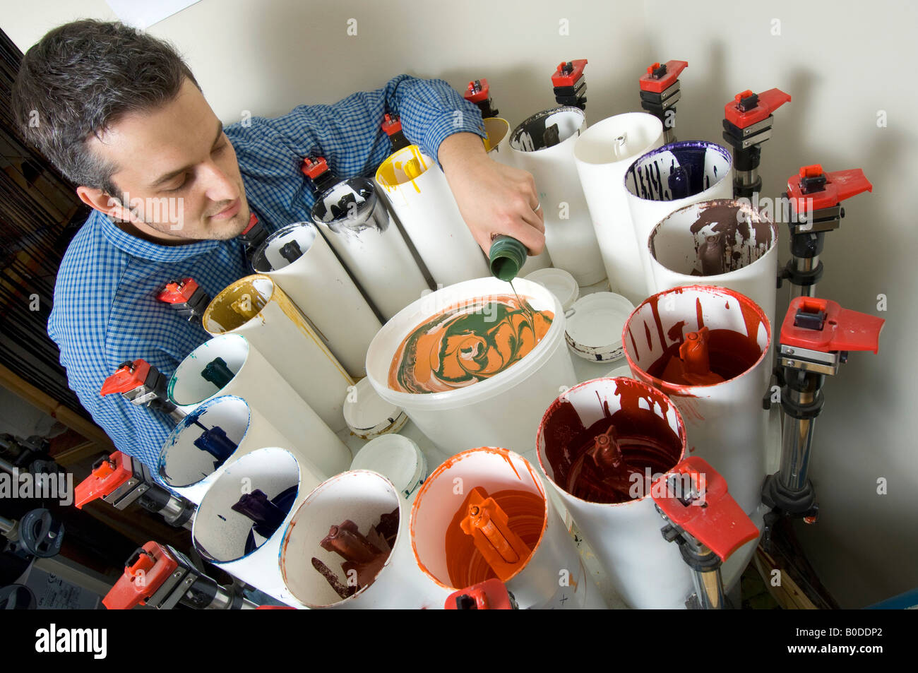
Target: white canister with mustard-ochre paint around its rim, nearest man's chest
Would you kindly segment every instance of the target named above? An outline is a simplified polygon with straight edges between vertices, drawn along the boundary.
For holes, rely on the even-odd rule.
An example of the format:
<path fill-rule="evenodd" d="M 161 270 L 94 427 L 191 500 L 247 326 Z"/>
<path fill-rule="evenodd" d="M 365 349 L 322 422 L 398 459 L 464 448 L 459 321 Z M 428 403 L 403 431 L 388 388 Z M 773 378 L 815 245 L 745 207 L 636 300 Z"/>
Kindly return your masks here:
<path fill-rule="evenodd" d="M 347 427 L 342 408 L 353 378 L 272 278 L 236 281 L 214 297 L 201 322 L 214 336 L 244 336 L 332 432 Z"/>

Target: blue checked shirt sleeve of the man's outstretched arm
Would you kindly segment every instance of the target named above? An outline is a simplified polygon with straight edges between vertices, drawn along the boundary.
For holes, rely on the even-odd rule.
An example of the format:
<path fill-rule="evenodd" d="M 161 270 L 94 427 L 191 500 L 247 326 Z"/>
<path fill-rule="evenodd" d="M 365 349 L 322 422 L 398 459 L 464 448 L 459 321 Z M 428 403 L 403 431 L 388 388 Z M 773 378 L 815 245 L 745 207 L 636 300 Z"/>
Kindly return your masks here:
<path fill-rule="evenodd" d="M 300 166 L 322 156 L 342 177 L 372 176 L 391 153 L 381 125 L 396 113 L 406 138 L 434 161 L 453 133 L 487 138 L 481 112 L 442 80 L 400 74 L 380 89 L 349 95 L 333 105 L 297 106 L 278 118 L 251 118 L 226 128 L 247 195 L 274 228 L 308 221 L 315 201 Z"/>

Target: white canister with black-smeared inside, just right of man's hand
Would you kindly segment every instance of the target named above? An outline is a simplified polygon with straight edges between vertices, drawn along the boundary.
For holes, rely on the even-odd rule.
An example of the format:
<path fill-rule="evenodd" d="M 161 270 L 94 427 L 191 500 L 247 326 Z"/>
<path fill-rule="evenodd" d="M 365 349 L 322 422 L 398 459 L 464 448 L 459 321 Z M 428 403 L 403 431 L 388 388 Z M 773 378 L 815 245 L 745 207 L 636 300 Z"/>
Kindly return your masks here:
<path fill-rule="evenodd" d="M 558 140 L 551 145 L 554 127 Z M 552 263 L 573 275 L 581 287 L 606 277 L 574 162 L 574 145 L 586 127 L 583 110 L 556 107 L 532 115 L 510 134 L 514 163 L 535 178 Z"/>

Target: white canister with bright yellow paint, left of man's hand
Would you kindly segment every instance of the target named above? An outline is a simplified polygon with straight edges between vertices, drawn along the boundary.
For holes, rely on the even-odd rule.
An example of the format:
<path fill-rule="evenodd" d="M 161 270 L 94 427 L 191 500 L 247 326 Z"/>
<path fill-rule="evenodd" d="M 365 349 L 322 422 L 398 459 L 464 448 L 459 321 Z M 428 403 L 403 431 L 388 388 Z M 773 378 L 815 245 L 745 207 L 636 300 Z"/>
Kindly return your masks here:
<path fill-rule="evenodd" d="M 376 184 L 385 190 L 436 283 L 449 286 L 490 274 L 446 175 L 417 145 L 394 152 L 380 164 Z"/>

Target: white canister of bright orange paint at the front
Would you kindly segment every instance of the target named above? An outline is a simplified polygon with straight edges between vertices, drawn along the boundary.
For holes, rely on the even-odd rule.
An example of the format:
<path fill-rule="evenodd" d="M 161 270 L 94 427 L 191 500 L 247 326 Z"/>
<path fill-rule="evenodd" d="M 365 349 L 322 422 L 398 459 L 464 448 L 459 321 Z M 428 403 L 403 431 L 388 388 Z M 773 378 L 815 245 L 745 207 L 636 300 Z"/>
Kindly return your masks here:
<path fill-rule="evenodd" d="M 481 510 L 493 514 L 485 522 L 490 533 L 465 528 L 466 511 L 475 512 L 482 497 Z M 516 541 L 497 557 L 486 555 L 479 545 L 488 534 L 503 537 L 498 544 L 505 546 Z M 434 470 L 411 508 L 411 546 L 420 568 L 448 593 L 497 577 L 521 610 L 606 607 L 542 479 L 506 449 L 471 449 Z M 508 557 L 514 562 L 502 563 Z"/>

